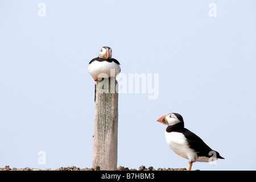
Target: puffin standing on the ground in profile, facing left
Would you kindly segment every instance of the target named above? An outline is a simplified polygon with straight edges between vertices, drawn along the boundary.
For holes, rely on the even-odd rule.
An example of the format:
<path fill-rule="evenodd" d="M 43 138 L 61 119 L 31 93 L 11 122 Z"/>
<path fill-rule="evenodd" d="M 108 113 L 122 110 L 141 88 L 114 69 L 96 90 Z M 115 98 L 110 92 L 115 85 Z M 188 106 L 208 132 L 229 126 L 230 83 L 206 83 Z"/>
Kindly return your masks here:
<path fill-rule="evenodd" d="M 166 128 L 166 142 L 177 154 L 188 159 L 191 171 L 194 162 L 211 162 L 224 159 L 217 151 L 212 150 L 196 134 L 184 128 L 183 117 L 177 113 L 170 113 L 160 117 L 158 122 L 168 125 Z"/>

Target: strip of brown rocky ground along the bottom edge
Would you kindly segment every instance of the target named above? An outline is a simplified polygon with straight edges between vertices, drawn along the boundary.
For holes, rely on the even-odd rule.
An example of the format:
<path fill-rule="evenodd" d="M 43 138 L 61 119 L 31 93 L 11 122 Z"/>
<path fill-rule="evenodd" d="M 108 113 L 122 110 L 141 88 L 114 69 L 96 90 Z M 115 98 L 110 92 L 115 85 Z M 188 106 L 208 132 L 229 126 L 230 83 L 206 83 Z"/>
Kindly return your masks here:
<path fill-rule="evenodd" d="M 138 169 L 129 169 L 127 167 L 119 166 L 117 171 L 183 171 L 185 168 L 158 168 L 154 169 L 152 166 L 146 168 L 145 166 L 141 166 Z M 71 167 L 60 167 L 58 169 L 37 169 L 37 168 L 10 168 L 9 166 L 5 166 L 4 168 L 0 168 L 0 171 L 100 171 L 100 167 L 96 168 L 79 168 L 75 166 Z"/>

